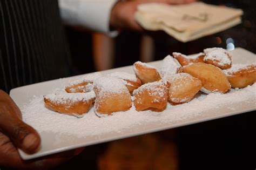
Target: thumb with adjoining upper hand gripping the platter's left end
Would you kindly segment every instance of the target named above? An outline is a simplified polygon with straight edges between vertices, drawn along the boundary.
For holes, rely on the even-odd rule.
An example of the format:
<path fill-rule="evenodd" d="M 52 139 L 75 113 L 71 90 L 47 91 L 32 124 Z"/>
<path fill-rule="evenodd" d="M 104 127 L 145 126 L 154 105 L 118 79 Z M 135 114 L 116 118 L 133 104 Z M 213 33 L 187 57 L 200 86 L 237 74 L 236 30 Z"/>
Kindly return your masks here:
<path fill-rule="evenodd" d="M 35 153 L 40 146 L 39 134 L 21 120 L 21 111 L 8 94 L 0 90 L 0 131 L 26 153 Z"/>

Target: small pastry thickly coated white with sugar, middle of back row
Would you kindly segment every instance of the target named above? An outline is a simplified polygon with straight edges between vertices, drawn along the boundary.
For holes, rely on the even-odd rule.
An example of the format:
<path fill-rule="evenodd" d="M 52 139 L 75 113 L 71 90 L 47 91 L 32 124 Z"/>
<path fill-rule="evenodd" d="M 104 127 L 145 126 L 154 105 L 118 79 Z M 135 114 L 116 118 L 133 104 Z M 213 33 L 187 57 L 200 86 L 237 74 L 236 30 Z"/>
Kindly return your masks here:
<path fill-rule="evenodd" d="M 161 77 L 169 77 L 172 74 L 181 73 L 182 67 L 179 64 L 178 60 L 168 55 L 163 59 L 161 65 L 160 73 Z"/>

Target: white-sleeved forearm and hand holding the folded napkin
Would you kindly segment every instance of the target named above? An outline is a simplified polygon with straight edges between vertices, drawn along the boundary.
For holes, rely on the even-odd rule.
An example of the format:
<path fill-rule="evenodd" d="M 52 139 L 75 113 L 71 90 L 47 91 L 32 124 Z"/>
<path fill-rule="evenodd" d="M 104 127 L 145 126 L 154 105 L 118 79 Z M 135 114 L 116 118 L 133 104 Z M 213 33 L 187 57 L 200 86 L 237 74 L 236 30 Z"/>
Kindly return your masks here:
<path fill-rule="evenodd" d="M 63 21 L 70 25 L 84 26 L 91 30 L 116 35 L 116 30 L 143 31 L 135 21 L 134 13 L 142 3 L 183 4 L 196 0 L 58 0 Z"/>

